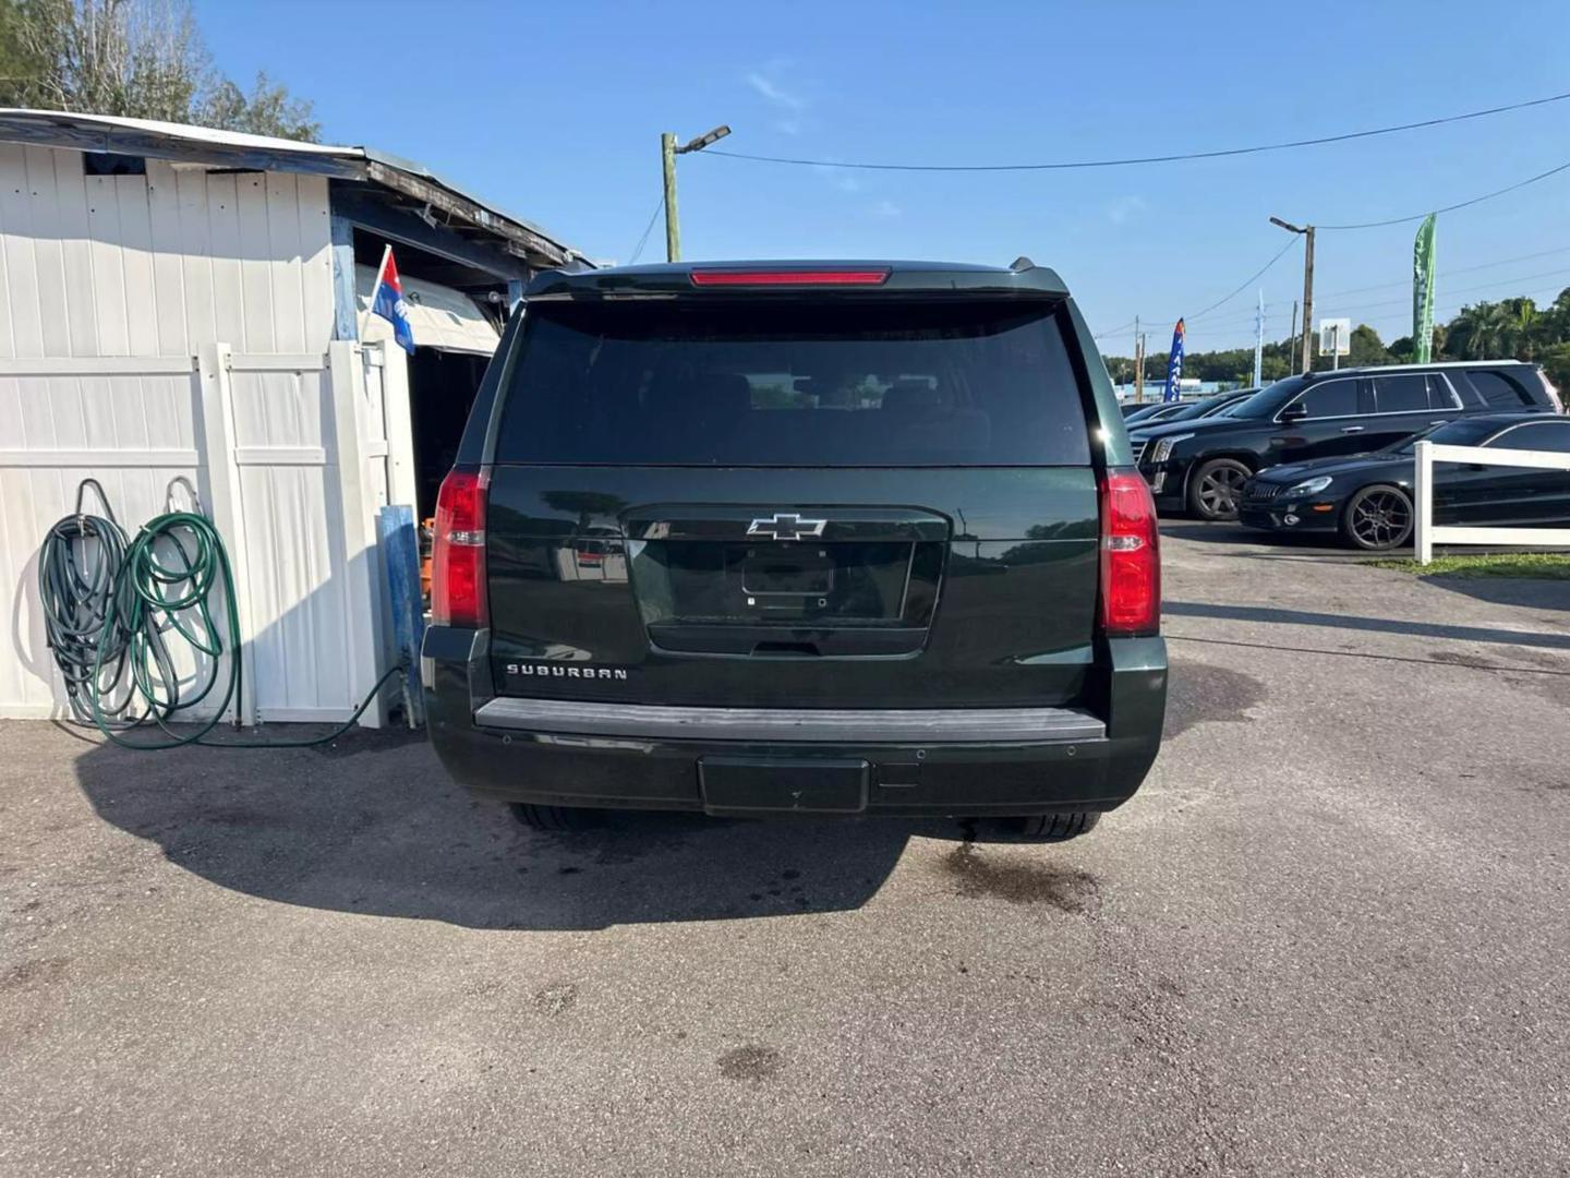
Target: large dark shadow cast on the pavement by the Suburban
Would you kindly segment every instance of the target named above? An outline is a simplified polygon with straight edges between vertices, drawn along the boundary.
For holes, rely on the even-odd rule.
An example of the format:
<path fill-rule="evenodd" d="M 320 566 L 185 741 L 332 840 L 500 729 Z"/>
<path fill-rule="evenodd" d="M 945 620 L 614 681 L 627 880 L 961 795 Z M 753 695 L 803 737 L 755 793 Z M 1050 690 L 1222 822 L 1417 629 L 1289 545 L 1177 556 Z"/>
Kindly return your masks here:
<path fill-rule="evenodd" d="M 75 770 L 104 820 L 223 887 L 473 928 L 854 909 L 878 892 L 912 834 L 995 834 L 890 818 L 644 812 L 611 814 L 592 832 L 539 834 L 451 784 L 421 737 L 386 730 L 352 732 L 325 749 L 152 754 L 94 744 Z"/>

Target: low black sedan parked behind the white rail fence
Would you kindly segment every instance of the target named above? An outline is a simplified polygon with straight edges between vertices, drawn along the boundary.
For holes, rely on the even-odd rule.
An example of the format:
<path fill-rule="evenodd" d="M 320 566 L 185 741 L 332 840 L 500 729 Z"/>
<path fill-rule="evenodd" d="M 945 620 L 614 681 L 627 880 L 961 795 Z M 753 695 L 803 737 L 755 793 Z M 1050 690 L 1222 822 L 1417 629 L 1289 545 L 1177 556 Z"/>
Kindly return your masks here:
<path fill-rule="evenodd" d="M 1479 413 L 1372 454 L 1270 466 L 1243 484 L 1239 521 L 1273 532 L 1334 531 L 1355 548 L 1397 548 L 1411 539 L 1413 446 L 1419 440 L 1570 454 L 1570 418 Z M 1479 528 L 1564 528 L 1570 525 L 1570 471 L 1435 462 L 1433 518 Z"/>

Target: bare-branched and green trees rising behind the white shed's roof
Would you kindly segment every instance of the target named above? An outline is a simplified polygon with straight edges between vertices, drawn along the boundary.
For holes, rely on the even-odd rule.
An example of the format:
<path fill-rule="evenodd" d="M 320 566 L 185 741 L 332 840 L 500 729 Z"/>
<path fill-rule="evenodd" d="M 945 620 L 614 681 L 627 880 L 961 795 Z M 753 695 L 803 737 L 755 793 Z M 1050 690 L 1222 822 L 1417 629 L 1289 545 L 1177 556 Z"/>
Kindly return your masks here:
<path fill-rule="evenodd" d="M 316 140 L 311 104 L 220 72 L 185 0 L 0 0 L 0 107 Z"/>

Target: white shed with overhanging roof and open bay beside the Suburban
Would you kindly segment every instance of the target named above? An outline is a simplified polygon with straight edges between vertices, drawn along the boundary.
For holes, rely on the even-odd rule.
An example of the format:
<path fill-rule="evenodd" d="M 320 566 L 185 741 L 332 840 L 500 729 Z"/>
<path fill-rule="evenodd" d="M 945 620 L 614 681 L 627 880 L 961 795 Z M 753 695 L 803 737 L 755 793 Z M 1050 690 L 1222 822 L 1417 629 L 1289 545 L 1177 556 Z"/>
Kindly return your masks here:
<path fill-rule="evenodd" d="M 411 360 L 382 320 L 360 339 L 385 243 Z M 198 487 L 248 719 L 347 716 L 391 657 L 375 514 L 430 514 L 506 308 L 573 264 L 363 148 L 0 110 L 0 716 L 63 715 L 36 558 L 86 476 L 129 532 Z"/>

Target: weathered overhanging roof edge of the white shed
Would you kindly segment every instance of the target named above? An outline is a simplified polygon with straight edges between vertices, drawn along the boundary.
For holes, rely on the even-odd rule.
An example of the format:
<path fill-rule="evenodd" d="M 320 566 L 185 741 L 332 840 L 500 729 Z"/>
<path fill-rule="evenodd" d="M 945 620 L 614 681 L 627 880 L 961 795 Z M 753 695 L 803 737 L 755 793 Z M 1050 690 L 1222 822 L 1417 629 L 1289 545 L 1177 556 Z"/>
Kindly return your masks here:
<path fill-rule="evenodd" d="M 256 170 L 306 171 L 339 179 L 367 181 L 402 192 L 413 188 L 416 193 L 419 185 L 433 185 L 465 206 L 471 206 L 466 214 L 479 225 L 499 231 L 510 228 L 537 239 L 535 245 L 548 254 L 559 254 L 562 262 L 589 261 L 581 250 L 553 237 L 537 225 L 465 192 L 430 168 L 374 148 L 301 143 L 268 135 L 195 127 L 185 123 L 19 107 L 0 107 L 0 141 L 210 162 Z M 407 181 L 407 185 L 402 181 Z"/>

